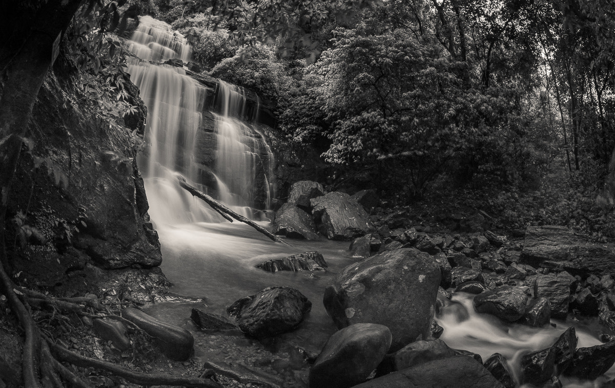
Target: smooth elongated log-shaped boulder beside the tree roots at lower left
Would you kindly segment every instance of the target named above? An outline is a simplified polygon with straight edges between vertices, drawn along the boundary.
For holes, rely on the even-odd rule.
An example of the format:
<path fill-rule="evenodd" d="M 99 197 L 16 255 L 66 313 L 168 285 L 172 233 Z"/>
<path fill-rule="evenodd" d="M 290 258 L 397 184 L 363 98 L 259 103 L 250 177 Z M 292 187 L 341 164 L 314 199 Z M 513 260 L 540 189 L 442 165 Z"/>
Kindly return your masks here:
<path fill-rule="evenodd" d="M 185 361 L 192 354 L 194 338 L 185 328 L 167 324 L 132 307 L 122 310 L 122 317 L 155 338 L 157 345 L 170 359 Z"/>

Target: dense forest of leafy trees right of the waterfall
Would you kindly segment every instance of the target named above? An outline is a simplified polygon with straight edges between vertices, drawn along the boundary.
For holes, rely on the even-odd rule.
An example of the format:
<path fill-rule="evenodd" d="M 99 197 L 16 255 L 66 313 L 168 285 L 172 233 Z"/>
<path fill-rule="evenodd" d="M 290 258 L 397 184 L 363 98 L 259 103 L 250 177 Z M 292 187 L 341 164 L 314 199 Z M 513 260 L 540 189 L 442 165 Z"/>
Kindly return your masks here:
<path fill-rule="evenodd" d="M 478 198 L 515 227 L 615 237 L 608 1 L 147 7 L 213 76 L 271 104 L 288 139 L 322 154 L 330 184 L 402 205 Z"/>

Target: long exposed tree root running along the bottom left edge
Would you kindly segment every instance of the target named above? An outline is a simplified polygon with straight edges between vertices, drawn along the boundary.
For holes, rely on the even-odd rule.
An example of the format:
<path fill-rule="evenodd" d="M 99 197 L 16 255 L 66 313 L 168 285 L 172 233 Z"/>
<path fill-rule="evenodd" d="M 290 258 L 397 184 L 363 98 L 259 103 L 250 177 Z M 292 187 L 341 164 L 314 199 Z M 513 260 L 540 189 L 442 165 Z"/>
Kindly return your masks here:
<path fill-rule="evenodd" d="M 183 376 L 169 376 L 168 374 L 151 374 L 138 373 L 131 370 L 119 367 L 118 365 L 85 357 L 81 354 L 76 354 L 69 351 L 63 346 L 49 343 L 59 359 L 69 362 L 77 367 L 93 367 L 100 370 L 109 371 L 116 376 L 120 376 L 127 381 L 139 384 L 141 386 L 187 386 L 187 387 L 205 387 L 205 388 L 221 388 L 220 384 L 202 378 L 186 378 Z"/>

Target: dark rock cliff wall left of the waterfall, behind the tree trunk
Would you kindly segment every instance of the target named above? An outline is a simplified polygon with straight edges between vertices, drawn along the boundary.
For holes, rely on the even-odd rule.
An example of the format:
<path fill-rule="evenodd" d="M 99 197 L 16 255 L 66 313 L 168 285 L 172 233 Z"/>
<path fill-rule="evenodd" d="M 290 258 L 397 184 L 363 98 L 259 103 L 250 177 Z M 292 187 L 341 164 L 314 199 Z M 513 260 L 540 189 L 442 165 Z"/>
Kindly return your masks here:
<path fill-rule="evenodd" d="M 109 273 L 133 268 L 154 268 L 140 276 L 164 283 L 131 134 L 143 131 L 145 106 L 128 83 L 137 112 L 114 119 L 70 68 L 50 71 L 28 123 L 5 225 L 12 270 L 66 292 L 95 292 Z"/>

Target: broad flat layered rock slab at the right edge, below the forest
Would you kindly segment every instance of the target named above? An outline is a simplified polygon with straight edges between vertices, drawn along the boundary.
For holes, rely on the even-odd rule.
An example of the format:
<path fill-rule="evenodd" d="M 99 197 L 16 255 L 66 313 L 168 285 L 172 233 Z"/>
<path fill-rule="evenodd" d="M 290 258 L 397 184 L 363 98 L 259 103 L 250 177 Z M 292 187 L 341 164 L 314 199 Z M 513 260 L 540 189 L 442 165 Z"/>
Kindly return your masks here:
<path fill-rule="evenodd" d="M 590 243 L 566 227 L 528 227 L 520 259 L 536 268 L 566 270 L 573 274 L 615 273 L 615 247 Z"/>

